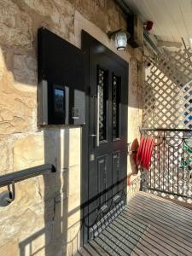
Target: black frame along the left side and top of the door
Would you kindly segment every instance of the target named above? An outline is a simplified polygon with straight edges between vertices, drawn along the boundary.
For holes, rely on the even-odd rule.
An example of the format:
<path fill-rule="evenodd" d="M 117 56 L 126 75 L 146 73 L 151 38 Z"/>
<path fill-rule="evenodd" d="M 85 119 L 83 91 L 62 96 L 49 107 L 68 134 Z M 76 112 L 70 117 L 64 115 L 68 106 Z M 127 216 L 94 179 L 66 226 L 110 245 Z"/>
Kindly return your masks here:
<path fill-rule="evenodd" d="M 84 215 L 88 213 L 86 207 L 89 199 L 89 118 L 90 118 L 90 44 L 102 44 L 96 38 L 90 36 L 88 32 L 82 30 L 82 51 L 84 55 L 84 91 L 85 91 L 85 125 L 82 127 L 82 139 L 81 139 L 81 220 L 84 219 Z M 126 116 L 126 128 L 128 136 L 128 91 L 129 91 L 129 63 L 122 59 L 119 55 L 115 54 L 111 49 L 102 44 L 105 47 L 105 55 L 113 58 L 115 61 L 125 68 L 127 68 L 127 86 L 125 87 L 125 95 L 127 106 L 127 116 Z M 89 203 L 88 203 L 89 204 Z M 85 230 L 86 231 L 85 231 Z M 80 243 L 83 245 L 88 241 L 88 228 L 84 227 L 80 230 Z"/>

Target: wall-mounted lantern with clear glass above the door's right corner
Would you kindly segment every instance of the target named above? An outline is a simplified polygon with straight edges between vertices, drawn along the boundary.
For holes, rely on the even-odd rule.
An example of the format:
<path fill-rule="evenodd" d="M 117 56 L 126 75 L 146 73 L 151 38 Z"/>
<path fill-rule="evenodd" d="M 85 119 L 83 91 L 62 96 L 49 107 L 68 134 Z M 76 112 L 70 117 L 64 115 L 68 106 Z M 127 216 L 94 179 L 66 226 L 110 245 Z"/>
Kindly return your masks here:
<path fill-rule="evenodd" d="M 117 50 L 125 50 L 127 40 L 130 38 L 130 34 L 124 30 L 116 30 L 114 32 L 108 32 L 108 38 L 113 38 Z"/>

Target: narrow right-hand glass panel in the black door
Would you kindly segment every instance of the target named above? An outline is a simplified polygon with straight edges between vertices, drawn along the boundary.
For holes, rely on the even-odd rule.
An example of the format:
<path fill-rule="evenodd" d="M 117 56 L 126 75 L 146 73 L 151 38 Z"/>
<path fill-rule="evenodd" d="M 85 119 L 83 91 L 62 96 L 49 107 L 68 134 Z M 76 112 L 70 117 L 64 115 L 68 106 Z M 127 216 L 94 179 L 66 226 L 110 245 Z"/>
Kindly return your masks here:
<path fill-rule="evenodd" d="M 112 86 L 113 138 L 119 137 L 119 100 L 120 100 L 120 78 L 113 75 L 113 86 Z"/>

